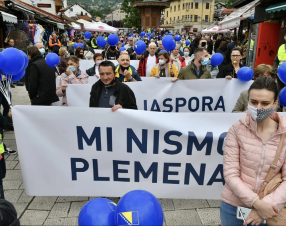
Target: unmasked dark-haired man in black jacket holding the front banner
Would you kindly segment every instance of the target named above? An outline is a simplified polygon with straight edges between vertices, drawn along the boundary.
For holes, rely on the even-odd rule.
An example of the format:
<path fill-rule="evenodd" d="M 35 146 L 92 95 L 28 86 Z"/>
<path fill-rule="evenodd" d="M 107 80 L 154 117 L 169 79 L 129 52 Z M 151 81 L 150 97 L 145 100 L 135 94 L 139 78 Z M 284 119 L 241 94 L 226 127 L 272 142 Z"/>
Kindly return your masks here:
<path fill-rule="evenodd" d="M 110 61 L 99 65 L 98 80 L 92 87 L 90 108 L 138 110 L 133 91 L 116 77 L 115 66 Z"/>

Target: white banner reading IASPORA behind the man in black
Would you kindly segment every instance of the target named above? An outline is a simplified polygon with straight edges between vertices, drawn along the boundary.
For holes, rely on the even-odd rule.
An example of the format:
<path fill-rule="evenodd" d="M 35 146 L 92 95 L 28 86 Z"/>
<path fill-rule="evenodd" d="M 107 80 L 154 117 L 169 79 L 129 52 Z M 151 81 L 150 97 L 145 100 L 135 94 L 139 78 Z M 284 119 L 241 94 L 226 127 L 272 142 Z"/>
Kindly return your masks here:
<path fill-rule="evenodd" d="M 180 80 L 146 78 L 143 82 L 129 82 L 139 110 L 158 112 L 229 112 L 240 93 L 253 81 L 238 79 Z M 92 84 L 68 85 L 69 107 L 89 107 Z"/>

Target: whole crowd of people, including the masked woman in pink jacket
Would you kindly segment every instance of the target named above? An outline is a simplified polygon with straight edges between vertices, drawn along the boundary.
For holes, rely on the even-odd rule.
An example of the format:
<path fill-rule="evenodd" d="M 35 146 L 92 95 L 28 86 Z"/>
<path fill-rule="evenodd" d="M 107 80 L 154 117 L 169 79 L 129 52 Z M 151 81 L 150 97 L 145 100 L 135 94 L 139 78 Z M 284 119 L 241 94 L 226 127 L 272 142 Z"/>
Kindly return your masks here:
<path fill-rule="evenodd" d="M 125 82 L 140 82 L 141 77 L 170 77 L 172 82 L 193 79 L 230 80 L 237 78 L 238 70 L 245 67 L 241 63 L 242 49 L 236 36 L 228 43 L 223 34 L 198 36 L 184 33 L 180 34 L 181 41 L 176 42 L 176 47 L 171 52 L 165 51 L 162 44 L 162 39 L 169 35 L 168 31 L 153 28 L 150 32 L 154 33 L 143 37 L 138 29 L 133 34 L 121 33 L 118 35 L 119 42 L 114 46 L 106 45 L 102 53 L 95 53 L 95 50 L 101 49 L 96 42 L 97 32 L 90 39 L 84 36 L 78 39 L 65 36 L 61 39 L 62 43 L 53 33 L 49 46 L 50 51 L 60 57 L 59 71 L 45 63 L 47 53 L 41 43 L 35 43 L 27 50 L 29 65 L 25 74 L 31 105 L 51 106 L 59 101 L 59 97 L 63 97 L 61 105 L 67 107 L 66 89 L 69 84 L 87 84 L 89 77 L 95 76 L 98 81 L 91 90 L 90 107 L 110 108 L 111 111 L 122 108 L 137 110 L 136 97 Z M 173 34 L 175 35 L 178 33 Z M 107 38 L 107 34 L 102 36 Z M 140 55 L 134 48 L 139 40 L 146 43 L 146 51 Z M 187 41 L 190 41 L 190 45 L 186 44 Z M 9 40 L 9 43 L 13 43 L 13 40 Z M 74 43 L 82 43 L 84 48 L 73 48 Z M 119 51 L 123 43 L 125 50 Z M 219 66 L 211 63 L 214 53 L 223 56 Z M 87 71 L 81 71 L 80 64 L 83 60 L 93 60 L 95 64 Z M 117 60 L 118 65 L 115 66 L 110 60 Z M 131 60 L 139 60 L 139 67 L 131 66 Z M 253 84 L 249 90 L 240 94 L 232 111 L 248 114 L 230 128 L 225 140 L 225 188 L 220 209 L 223 226 L 243 224 L 236 219 L 237 206 L 252 208 L 244 225 L 260 225 L 263 220 L 276 217 L 286 204 L 286 145 L 282 147 L 275 168 L 276 173 L 282 172 L 281 185 L 273 193 L 265 197 L 259 196 L 267 172 L 273 167 L 281 135 L 286 133 L 286 118 L 277 113 L 283 110 L 278 100 L 282 88 L 277 85 L 279 65 L 276 68 L 266 64 L 257 66 L 254 69 Z M 59 84 L 55 82 L 57 76 L 60 76 Z M 1 101 L 4 112 L 3 115 L 0 114 L 0 126 L 8 128 L 11 125 L 11 111 L 4 102 Z M 0 146 L 2 158 L 4 151 L 5 147 Z M 4 161 L 0 161 L 0 167 L 1 163 Z M 3 177 L 4 174 L 1 173 L 1 178 Z M 0 195 L 4 198 L 2 183 Z"/>

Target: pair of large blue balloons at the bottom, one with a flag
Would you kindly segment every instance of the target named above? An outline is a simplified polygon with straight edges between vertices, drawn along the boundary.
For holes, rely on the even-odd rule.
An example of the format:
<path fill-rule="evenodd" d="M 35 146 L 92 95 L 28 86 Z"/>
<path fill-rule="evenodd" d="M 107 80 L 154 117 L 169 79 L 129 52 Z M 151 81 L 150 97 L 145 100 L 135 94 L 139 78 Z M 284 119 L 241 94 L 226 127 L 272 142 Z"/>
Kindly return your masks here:
<path fill-rule="evenodd" d="M 135 190 L 125 194 L 116 205 L 96 198 L 81 210 L 79 226 L 163 226 L 164 214 L 158 199 L 150 192 Z"/>

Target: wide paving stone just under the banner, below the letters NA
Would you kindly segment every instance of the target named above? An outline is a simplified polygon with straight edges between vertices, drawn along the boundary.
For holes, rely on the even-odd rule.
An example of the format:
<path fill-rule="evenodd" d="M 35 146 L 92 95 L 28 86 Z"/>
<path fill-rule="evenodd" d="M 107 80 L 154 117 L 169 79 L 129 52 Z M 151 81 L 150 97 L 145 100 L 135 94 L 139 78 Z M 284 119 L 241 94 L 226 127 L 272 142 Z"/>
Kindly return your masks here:
<path fill-rule="evenodd" d="M 188 210 L 197 208 L 208 208 L 208 204 L 204 199 L 173 199 L 176 210 Z"/>

